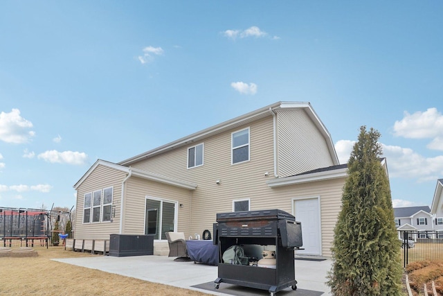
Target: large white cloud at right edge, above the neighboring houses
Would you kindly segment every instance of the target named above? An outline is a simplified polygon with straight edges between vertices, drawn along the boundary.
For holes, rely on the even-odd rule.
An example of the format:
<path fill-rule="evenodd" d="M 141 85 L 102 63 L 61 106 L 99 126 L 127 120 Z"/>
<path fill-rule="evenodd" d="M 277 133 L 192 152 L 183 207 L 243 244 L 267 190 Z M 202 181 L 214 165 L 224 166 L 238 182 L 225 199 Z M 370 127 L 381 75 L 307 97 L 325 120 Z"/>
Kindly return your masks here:
<path fill-rule="evenodd" d="M 401 121 L 395 121 L 394 134 L 409 139 L 432 139 L 429 149 L 443 150 L 443 115 L 437 108 L 409 114 L 404 112 Z"/>

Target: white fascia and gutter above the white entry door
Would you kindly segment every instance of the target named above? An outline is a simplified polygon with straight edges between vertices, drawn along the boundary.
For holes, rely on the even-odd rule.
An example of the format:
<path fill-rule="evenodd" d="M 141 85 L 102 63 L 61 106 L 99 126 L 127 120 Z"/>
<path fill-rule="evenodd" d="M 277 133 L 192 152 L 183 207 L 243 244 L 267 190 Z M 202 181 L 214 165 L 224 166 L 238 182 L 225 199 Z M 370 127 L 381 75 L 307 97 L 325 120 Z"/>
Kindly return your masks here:
<path fill-rule="evenodd" d="M 294 184 L 302 184 L 308 182 L 317 182 L 324 180 L 332 180 L 347 177 L 347 168 L 340 168 L 338 170 L 324 171 L 318 173 L 311 173 L 306 175 L 297 175 L 292 177 L 276 178 L 266 181 L 269 187 L 288 186 Z"/>

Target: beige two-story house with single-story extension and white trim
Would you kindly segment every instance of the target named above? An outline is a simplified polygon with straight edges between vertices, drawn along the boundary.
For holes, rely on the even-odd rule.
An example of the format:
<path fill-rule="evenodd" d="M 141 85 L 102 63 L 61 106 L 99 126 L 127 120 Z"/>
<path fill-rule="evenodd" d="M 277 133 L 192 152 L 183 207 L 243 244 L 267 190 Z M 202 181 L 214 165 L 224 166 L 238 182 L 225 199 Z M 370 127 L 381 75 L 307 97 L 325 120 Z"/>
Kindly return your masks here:
<path fill-rule="evenodd" d="M 282 209 L 302 223 L 298 253 L 330 256 L 346 165 L 309 103 L 278 102 L 118 164 L 74 185 L 76 239 L 212 232 L 216 214 Z M 167 243 L 166 243 L 167 245 Z"/>

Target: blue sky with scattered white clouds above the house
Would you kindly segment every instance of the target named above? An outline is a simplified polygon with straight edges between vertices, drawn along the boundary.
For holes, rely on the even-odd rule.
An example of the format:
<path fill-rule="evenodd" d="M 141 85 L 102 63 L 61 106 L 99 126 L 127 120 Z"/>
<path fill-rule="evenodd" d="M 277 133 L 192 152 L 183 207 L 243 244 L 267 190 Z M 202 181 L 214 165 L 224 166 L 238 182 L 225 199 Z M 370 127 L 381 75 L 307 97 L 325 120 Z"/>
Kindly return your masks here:
<path fill-rule="evenodd" d="M 341 163 L 381 133 L 394 207 L 443 178 L 443 1 L 1 1 L 0 207 L 278 101 Z"/>

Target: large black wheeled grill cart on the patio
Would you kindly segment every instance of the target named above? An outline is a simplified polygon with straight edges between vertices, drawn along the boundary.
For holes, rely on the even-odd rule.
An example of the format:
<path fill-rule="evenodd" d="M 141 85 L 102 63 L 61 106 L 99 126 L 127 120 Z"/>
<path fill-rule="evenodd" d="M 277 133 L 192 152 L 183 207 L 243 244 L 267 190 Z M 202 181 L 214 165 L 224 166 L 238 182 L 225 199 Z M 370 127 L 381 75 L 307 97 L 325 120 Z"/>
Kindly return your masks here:
<path fill-rule="evenodd" d="M 296 290 L 294 249 L 302 246 L 302 232 L 295 219 L 279 209 L 217 214 L 213 229 L 213 242 L 219 246 L 215 288 L 224 282 L 268 290 L 271 296 L 287 287 Z M 223 253 L 231 245 L 242 245 L 245 256 L 249 255 L 246 250 L 275 246 L 275 268 L 223 263 Z"/>

